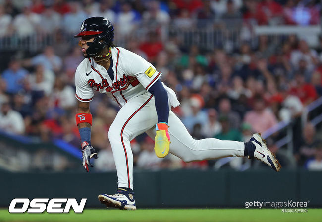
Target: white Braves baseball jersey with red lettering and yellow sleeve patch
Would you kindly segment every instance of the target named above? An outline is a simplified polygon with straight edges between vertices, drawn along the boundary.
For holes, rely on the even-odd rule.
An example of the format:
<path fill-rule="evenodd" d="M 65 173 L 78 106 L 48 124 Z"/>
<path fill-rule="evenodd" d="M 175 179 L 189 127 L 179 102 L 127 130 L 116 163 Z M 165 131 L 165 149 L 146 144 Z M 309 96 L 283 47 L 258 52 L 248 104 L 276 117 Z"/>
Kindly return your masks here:
<path fill-rule="evenodd" d="M 121 47 L 111 48 L 111 64 L 108 70 L 85 58 L 75 75 L 76 98 L 90 102 L 94 90 L 107 93 L 120 107 L 147 90 L 161 77 L 161 72 L 141 56 Z M 169 97 L 169 106 L 180 105 L 174 91 L 163 84 Z"/>

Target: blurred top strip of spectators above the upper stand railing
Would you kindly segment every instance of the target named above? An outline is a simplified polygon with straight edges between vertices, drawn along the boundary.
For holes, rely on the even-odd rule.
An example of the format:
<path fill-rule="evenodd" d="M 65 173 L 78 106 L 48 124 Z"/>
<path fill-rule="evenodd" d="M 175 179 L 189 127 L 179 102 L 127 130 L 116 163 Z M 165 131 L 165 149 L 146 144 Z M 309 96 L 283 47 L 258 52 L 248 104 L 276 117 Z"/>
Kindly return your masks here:
<path fill-rule="evenodd" d="M 191 27 L 195 19 L 316 25 L 320 7 L 320 0 L 1 0 L 0 36 L 23 37 L 61 28 L 75 33 L 79 21 L 92 16 L 107 17 L 122 34 L 131 33 L 139 21 L 178 27 Z"/>

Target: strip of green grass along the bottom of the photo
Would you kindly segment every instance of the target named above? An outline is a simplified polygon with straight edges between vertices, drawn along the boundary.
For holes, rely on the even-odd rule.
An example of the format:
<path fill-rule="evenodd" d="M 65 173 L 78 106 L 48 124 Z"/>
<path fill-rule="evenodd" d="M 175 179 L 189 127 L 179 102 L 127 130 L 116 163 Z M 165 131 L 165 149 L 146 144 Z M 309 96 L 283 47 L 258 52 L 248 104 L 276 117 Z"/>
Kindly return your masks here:
<path fill-rule="evenodd" d="M 321 217 L 322 209 L 308 209 L 307 213 L 283 213 L 281 209 L 92 209 L 82 214 L 10 214 L 7 209 L 0 210 L 0 222 L 321 222 Z"/>

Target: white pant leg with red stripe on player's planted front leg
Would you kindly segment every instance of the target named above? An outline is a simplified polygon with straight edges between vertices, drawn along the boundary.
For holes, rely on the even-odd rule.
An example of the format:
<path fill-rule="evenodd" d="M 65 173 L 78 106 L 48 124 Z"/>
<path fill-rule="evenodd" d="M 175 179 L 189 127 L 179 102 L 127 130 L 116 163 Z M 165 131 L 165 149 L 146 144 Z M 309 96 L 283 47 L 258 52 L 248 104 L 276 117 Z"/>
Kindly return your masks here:
<path fill-rule="evenodd" d="M 148 94 L 133 98 L 118 111 L 108 131 L 118 176 L 118 187 L 133 189 L 133 154 L 130 141 L 151 128 L 157 117 L 154 100 Z"/>

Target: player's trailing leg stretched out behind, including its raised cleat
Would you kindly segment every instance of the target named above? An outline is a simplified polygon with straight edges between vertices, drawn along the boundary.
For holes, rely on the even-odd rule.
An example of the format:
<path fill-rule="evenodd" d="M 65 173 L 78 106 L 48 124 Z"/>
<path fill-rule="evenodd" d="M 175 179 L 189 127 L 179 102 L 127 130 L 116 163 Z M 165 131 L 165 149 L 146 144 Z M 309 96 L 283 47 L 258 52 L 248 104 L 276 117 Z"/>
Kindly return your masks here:
<path fill-rule="evenodd" d="M 274 170 L 279 171 L 278 165 L 272 162 L 275 160 L 270 151 L 266 148 L 266 144 L 258 134 L 253 136 L 250 142 L 243 143 L 238 141 L 219 140 L 215 138 L 195 140 L 189 134 L 181 120 L 172 112 L 169 113 L 169 135 L 170 135 L 170 153 L 181 158 L 185 162 L 200 161 L 206 159 L 216 159 L 223 157 L 244 157 L 251 156 L 261 159 L 271 166 Z M 153 138 L 155 132 L 149 130 L 148 134 Z M 255 141 L 256 140 L 256 141 Z M 245 152 L 246 148 L 246 152 Z M 255 151 L 265 154 L 254 154 Z M 264 158 L 266 158 L 264 160 Z M 271 159 L 268 161 L 267 159 Z M 276 160 L 277 161 L 277 160 Z M 274 168 L 275 167 L 275 168 Z"/>

